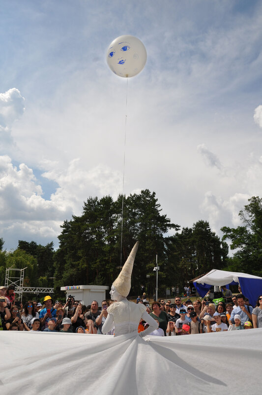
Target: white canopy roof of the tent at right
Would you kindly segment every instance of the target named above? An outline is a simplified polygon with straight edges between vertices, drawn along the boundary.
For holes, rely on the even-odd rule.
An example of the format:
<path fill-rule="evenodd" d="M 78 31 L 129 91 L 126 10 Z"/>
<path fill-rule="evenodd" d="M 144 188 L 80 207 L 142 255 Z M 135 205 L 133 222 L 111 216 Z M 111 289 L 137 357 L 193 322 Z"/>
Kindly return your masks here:
<path fill-rule="evenodd" d="M 238 277 L 262 280 L 262 277 L 253 276 L 252 274 L 212 269 L 209 273 L 197 279 L 196 282 L 199 284 L 205 283 L 209 285 L 223 286 L 232 283 L 232 281 L 238 283 Z"/>

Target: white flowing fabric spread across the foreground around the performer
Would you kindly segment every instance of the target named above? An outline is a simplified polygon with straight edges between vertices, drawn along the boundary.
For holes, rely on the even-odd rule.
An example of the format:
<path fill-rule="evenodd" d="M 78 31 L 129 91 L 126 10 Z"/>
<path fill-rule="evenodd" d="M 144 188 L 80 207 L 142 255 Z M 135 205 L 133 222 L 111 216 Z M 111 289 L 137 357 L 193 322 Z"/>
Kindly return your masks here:
<path fill-rule="evenodd" d="M 262 329 L 141 338 L 0 332 L 0 394 L 260 394 Z"/>

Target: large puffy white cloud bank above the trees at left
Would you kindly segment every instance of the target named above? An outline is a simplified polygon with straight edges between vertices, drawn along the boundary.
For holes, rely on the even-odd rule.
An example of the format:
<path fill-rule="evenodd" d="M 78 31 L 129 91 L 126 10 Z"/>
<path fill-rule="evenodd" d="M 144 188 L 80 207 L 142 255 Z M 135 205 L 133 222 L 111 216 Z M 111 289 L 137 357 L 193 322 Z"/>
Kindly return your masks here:
<path fill-rule="evenodd" d="M 8 155 L 0 156 L 0 237 L 6 248 L 24 240 L 24 235 L 39 243 L 56 242 L 60 224 L 72 214 L 81 214 L 88 196 L 115 194 L 116 198 L 121 190 L 120 173 L 103 165 L 86 171 L 78 159 L 63 171 L 50 170 L 42 176 L 58 182 L 50 200 L 42 197 L 32 169 L 24 163 L 17 168 Z"/>

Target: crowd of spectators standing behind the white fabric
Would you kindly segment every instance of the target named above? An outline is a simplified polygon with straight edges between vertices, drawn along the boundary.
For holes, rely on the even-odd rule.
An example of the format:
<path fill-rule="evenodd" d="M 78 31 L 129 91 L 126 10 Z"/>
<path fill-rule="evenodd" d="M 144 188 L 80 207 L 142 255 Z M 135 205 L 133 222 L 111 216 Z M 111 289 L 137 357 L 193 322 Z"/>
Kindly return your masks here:
<path fill-rule="evenodd" d="M 14 289 L 14 286 L 0 287 L 0 330 L 102 334 L 107 308 L 114 303 L 112 300 L 103 300 L 99 310 L 95 300 L 90 306 L 85 306 L 70 296 L 63 304 L 58 300 L 54 302 L 50 295 L 46 295 L 43 305 L 36 300 L 28 300 L 22 305 L 15 298 Z M 155 336 L 262 327 L 262 295 L 253 308 L 242 293 L 230 295 L 226 289 L 224 293 L 226 300 L 231 301 L 220 301 L 217 305 L 205 299 L 192 302 L 189 298 L 182 303 L 181 297 L 176 296 L 173 303 L 160 299 L 154 301 L 150 308 L 145 292 L 136 302 L 145 304 L 147 313 L 158 323 L 158 328 L 151 333 Z M 138 331 L 145 330 L 147 326 L 141 320 Z M 114 329 L 107 334 L 114 335 Z"/>

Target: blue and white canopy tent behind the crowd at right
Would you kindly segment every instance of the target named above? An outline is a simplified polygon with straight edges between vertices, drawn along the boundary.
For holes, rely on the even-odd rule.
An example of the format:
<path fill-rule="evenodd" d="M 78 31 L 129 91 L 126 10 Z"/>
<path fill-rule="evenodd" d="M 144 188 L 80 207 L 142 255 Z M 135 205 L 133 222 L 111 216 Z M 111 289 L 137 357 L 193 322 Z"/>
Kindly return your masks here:
<path fill-rule="evenodd" d="M 262 277 L 247 273 L 212 269 L 194 282 L 194 286 L 202 297 L 204 297 L 211 286 L 234 284 L 240 285 L 242 293 L 249 299 L 250 304 L 255 307 L 259 295 L 262 295 Z"/>

